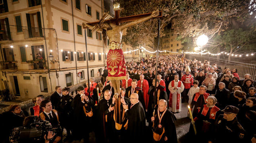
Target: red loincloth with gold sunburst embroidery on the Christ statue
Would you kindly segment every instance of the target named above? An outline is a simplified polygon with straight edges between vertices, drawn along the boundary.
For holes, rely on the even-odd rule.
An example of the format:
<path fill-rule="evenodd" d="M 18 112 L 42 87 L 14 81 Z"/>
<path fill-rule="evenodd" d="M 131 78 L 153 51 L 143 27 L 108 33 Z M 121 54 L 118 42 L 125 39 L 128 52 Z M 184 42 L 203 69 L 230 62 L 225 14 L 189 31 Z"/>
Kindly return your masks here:
<path fill-rule="evenodd" d="M 107 69 L 109 80 L 122 80 L 126 78 L 126 67 L 121 43 L 112 41 L 109 44 Z"/>

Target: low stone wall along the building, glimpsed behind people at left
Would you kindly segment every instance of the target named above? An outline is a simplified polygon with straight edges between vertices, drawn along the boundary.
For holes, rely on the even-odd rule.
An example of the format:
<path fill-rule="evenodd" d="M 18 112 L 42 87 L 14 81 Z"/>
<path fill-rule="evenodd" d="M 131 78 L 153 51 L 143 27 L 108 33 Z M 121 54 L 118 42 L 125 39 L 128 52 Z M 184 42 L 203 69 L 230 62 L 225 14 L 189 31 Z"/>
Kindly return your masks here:
<path fill-rule="evenodd" d="M 71 94 L 73 91 L 75 91 L 78 86 L 84 86 L 84 85 L 86 84 L 86 82 L 87 82 L 87 81 L 85 81 L 85 82 L 80 82 L 79 84 L 69 86 L 69 88 L 70 88 L 70 92 L 69 92 L 69 93 Z M 97 82 L 97 83 L 101 82 L 101 76 L 96 77 L 96 78 L 95 78 L 95 82 Z M 55 91 L 54 91 L 54 92 L 55 92 Z M 51 96 L 54 92 L 47 93 L 47 94 L 44 95 L 44 97 L 45 97 L 46 99 L 50 99 L 50 96 Z M 29 110 L 29 109 L 34 106 L 34 103 L 32 102 L 32 99 L 30 99 L 30 100 L 27 100 L 27 101 L 24 101 L 24 102 L 19 103 L 19 105 L 21 106 L 21 109 L 22 109 L 23 111 L 27 111 L 28 113 L 30 113 L 30 110 Z M 8 111 L 8 110 L 9 110 L 9 106 L 6 107 L 6 108 L 0 109 L 0 113 L 6 112 L 6 111 Z"/>

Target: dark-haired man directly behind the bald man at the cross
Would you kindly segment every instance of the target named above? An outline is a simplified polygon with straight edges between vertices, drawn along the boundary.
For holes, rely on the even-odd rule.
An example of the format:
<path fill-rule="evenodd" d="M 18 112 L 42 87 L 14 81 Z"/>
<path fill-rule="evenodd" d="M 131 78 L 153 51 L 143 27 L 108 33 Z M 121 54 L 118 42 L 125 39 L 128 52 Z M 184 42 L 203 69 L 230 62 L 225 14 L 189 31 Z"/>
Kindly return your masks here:
<path fill-rule="evenodd" d="M 145 112 L 146 112 L 146 107 L 145 107 L 145 101 L 144 101 L 144 97 L 143 97 L 143 93 L 140 87 L 137 87 L 138 81 L 137 80 L 132 80 L 132 86 L 129 86 L 128 88 L 126 88 L 125 91 L 125 97 L 130 98 L 130 96 L 132 95 L 132 93 L 137 93 L 139 96 L 139 101 L 141 102 Z"/>

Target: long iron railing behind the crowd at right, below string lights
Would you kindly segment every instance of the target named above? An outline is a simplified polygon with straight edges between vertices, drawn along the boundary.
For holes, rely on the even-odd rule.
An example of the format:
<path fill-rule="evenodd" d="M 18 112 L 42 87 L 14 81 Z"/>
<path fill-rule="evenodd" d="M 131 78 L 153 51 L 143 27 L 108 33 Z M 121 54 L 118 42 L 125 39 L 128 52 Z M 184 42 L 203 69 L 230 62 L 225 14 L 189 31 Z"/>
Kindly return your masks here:
<path fill-rule="evenodd" d="M 252 80 L 256 80 L 256 64 L 254 63 L 241 63 L 238 61 L 227 61 L 224 59 L 215 59 L 210 57 L 203 56 L 194 56 L 186 54 L 185 57 L 187 59 L 197 59 L 204 62 L 204 60 L 210 61 L 210 64 L 216 63 L 217 66 L 220 66 L 222 69 L 228 67 L 230 70 L 237 69 L 237 73 L 239 74 L 240 79 L 244 79 L 245 74 L 252 75 Z"/>

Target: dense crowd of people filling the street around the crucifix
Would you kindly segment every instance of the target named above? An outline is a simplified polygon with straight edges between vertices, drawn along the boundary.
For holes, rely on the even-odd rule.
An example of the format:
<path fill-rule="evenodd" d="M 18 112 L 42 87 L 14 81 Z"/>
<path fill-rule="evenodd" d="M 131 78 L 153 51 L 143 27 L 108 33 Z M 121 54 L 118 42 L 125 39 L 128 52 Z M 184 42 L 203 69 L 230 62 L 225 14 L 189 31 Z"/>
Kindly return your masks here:
<path fill-rule="evenodd" d="M 202 143 L 256 141 L 256 82 L 250 74 L 240 79 L 237 69 L 222 69 L 216 63 L 181 55 L 159 56 L 155 68 L 156 58 L 126 63 L 126 79 L 120 81 L 120 128 L 115 121 L 117 97 L 105 67 L 99 94 L 97 89 L 101 88 L 91 78 L 90 85 L 78 87 L 74 97 L 68 87 L 60 86 L 50 99 L 38 95 L 30 116 L 18 104 L 11 105 L 10 111 L 1 115 L 1 126 L 8 130 L 2 133 L 3 139 L 8 142 L 12 129 L 26 126 L 34 115 L 53 127 L 61 126 L 61 131 L 45 137 L 46 142 L 61 142 L 63 138 L 64 142 L 89 142 L 89 134 L 94 132 L 98 143 L 175 143 L 175 113 L 185 103 L 192 110 L 188 117 L 193 117 L 188 142 L 193 137 Z M 64 129 L 66 137 L 62 135 Z"/>

